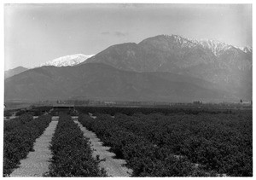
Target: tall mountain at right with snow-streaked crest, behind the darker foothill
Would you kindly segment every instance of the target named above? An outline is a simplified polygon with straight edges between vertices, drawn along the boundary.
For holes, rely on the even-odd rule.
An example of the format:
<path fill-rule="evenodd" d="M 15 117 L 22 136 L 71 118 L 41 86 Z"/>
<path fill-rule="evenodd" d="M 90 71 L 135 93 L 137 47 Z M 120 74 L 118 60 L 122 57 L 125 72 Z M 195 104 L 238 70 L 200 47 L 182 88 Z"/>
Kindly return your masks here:
<path fill-rule="evenodd" d="M 252 99 L 252 48 L 178 35 L 146 38 L 139 44 L 116 44 L 84 63 L 104 63 L 120 70 L 168 72 L 201 78 L 241 99 Z"/>

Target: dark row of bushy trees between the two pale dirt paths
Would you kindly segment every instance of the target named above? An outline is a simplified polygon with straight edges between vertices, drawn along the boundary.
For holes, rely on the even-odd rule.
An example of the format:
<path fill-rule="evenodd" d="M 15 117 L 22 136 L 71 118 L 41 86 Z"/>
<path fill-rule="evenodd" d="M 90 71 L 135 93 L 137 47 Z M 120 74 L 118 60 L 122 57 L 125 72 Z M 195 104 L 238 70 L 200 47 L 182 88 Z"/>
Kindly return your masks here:
<path fill-rule="evenodd" d="M 99 160 L 92 158 L 88 139 L 78 125 L 66 114 L 61 114 L 55 134 L 50 142 L 53 157 L 49 165 L 49 177 L 105 177 L 99 168 Z"/>

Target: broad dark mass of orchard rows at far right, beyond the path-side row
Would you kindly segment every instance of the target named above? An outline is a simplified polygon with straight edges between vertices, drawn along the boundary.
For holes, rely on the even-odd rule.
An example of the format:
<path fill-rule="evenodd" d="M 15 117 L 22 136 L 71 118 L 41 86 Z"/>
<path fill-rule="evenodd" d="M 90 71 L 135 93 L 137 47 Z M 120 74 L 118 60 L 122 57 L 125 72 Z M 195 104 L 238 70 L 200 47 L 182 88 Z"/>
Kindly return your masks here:
<path fill-rule="evenodd" d="M 114 124 L 145 137 L 172 154 L 183 155 L 207 171 L 253 175 L 252 114 L 117 114 Z"/>

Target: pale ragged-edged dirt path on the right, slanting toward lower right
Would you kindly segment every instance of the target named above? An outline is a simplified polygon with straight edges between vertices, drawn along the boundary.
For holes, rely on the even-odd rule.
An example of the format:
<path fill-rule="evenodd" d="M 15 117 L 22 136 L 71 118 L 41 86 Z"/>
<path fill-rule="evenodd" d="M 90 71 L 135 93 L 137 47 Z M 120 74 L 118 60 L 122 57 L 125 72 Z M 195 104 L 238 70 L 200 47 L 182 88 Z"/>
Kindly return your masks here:
<path fill-rule="evenodd" d="M 96 137 L 96 134 L 92 131 L 88 131 L 84 128 L 83 125 L 79 123 L 77 119 L 74 119 L 74 122 L 77 123 L 84 132 L 84 136 L 90 138 L 91 148 L 95 149 L 93 152 L 93 157 L 96 158 L 96 155 L 100 156 L 100 160 L 106 159 L 100 163 L 100 166 L 107 171 L 108 176 L 111 177 L 130 177 L 132 170 L 125 167 L 125 160 L 113 159 L 115 154 L 108 152 L 109 147 L 102 146 L 102 142 L 99 138 Z"/>

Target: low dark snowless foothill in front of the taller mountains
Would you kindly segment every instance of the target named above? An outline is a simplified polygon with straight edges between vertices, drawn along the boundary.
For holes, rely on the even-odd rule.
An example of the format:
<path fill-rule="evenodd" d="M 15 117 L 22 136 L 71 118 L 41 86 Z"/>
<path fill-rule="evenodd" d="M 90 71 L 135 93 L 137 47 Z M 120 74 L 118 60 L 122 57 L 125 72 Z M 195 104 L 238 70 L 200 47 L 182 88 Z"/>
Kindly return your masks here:
<path fill-rule="evenodd" d="M 5 80 L 5 101 L 72 99 L 106 101 L 222 102 L 236 96 L 200 78 L 173 73 L 137 73 L 102 63 L 38 67 Z"/>

